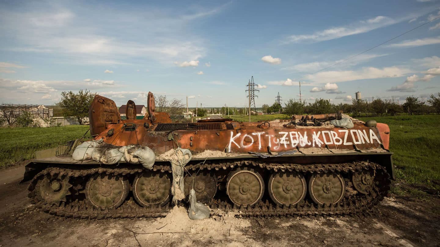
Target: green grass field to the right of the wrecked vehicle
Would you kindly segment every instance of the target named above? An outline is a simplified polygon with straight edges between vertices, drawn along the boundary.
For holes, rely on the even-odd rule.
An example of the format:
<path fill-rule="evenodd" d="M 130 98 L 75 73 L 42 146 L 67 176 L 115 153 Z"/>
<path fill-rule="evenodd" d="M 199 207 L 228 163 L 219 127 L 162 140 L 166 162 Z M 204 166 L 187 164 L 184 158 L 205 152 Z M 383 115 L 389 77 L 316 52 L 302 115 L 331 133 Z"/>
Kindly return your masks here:
<path fill-rule="evenodd" d="M 360 118 L 386 123 L 398 180 L 440 189 L 440 115 Z"/>

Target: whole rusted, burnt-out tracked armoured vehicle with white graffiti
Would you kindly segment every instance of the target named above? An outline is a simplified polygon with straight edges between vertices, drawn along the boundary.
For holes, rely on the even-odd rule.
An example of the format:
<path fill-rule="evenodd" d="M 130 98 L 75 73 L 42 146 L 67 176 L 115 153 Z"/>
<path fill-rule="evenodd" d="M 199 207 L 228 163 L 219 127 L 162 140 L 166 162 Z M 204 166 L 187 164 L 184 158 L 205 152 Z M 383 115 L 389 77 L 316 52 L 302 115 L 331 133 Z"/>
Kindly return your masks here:
<path fill-rule="evenodd" d="M 393 178 L 389 127 L 337 114 L 291 120 L 173 123 L 155 112 L 122 120 L 95 96 L 93 140 L 37 152 L 26 166 L 32 203 L 76 218 L 160 217 L 190 189 L 211 210 L 242 216 L 352 214 L 368 210 Z"/>

